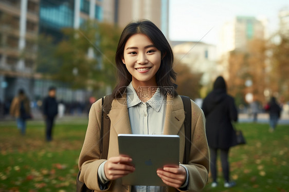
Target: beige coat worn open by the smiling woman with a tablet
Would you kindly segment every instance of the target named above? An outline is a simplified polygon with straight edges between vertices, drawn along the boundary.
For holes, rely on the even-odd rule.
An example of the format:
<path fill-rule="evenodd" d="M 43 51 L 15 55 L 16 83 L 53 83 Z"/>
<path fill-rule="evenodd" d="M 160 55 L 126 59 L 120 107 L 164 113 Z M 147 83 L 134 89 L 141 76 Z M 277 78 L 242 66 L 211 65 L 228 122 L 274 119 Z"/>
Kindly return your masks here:
<path fill-rule="evenodd" d="M 119 155 L 117 136 L 120 133 L 132 133 L 128 107 L 125 104 L 126 95 L 123 98 L 114 100 L 109 113 L 111 119 L 110 145 L 108 158 Z M 173 102 L 173 105 L 169 105 Z M 185 113 L 182 98 L 167 97 L 166 120 L 164 135 L 178 135 L 180 137 L 180 151 L 184 153 L 185 148 Z M 190 161 L 185 165 L 189 171 L 189 190 L 202 190 L 208 180 L 209 152 L 205 133 L 205 118 L 203 111 L 191 101 L 192 106 L 192 135 Z M 88 188 L 100 191 L 98 185 L 97 170 L 104 159 L 99 159 L 99 140 L 101 123 L 101 100 L 92 105 L 89 112 L 89 122 L 86 131 L 84 144 L 79 157 L 79 169 L 81 175 L 79 180 L 84 182 Z M 183 155 L 180 155 L 179 162 L 183 162 Z M 131 186 L 122 185 L 121 179 L 111 181 L 107 191 L 131 191 Z M 167 187 L 167 191 L 178 191 L 175 188 Z"/>

